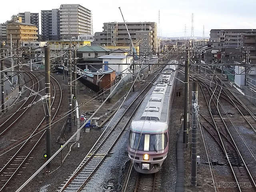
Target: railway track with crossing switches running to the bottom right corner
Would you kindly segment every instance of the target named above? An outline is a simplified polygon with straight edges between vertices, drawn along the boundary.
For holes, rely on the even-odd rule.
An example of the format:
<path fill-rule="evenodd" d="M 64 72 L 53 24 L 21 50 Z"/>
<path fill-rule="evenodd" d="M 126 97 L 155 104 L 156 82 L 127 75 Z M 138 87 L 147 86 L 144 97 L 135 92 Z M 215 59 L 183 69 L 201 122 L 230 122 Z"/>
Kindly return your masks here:
<path fill-rule="evenodd" d="M 202 88 L 202 92 L 204 94 L 204 98 L 207 102 L 211 121 L 206 121 L 207 118 L 200 119 L 200 123 L 204 125 L 206 130 L 210 132 L 210 134 L 213 136 L 213 138 L 218 142 L 220 147 L 222 148 L 222 151 L 224 152 L 226 159 L 228 161 L 228 164 L 230 165 L 230 168 L 232 170 L 232 174 L 234 176 L 234 180 L 237 183 L 237 188 L 240 192 L 243 191 L 255 191 L 256 190 L 256 184 L 254 181 L 254 177 L 252 176 L 249 167 L 247 166 L 244 158 L 242 157 L 239 147 L 234 141 L 234 138 L 232 137 L 232 134 L 230 133 L 230 130 L 228 128 L 227 120 L 223 115 L 227 115 L 226 110 L 224 108 L 224 104 L 220 101 L 220 95 L 223 91 L 223 82 L 220 84 L 217 82 L 216 79 L 214 79 L 216 87 L 210 87 L 207 88 L 208 94 L 206 95 L 205 89 Z M 219 80 L 219 79 L 218 79 Z M 205 84 L 204 84 L 205 86 Z M 227 88 L 227 87 L 225 87 Z M 218 91 L 217 91 L 218 90 Z M 210 97 L 209 97 L 210 95 Z M 232 101 L 234 98 L 230 98 L 228 94 L 225 94 L 227 98 L 225 100 Z M 210 98 L 210 100 L 208 99 Z M 212 105 L 211 105 L 212 103 Z M 214 110 L 216 110 L 215 113 L 212 113 L 212 106 L 215 105 Z M 236 109 L 239 109 L 237 105 L 233 102 L 233 106 Z M 242 104 L 240 104 L 242 106 Z M 241 112 L 241 111 L 240 111 Z M 241 114 L 243 114 L 241 112 Z M 208 123 L 208 124 L 207 124 Z M 247 184 L 247 187 L 243 186 L 244 184 Z M 251 187 L 248 187 L 250 185 Z"/>

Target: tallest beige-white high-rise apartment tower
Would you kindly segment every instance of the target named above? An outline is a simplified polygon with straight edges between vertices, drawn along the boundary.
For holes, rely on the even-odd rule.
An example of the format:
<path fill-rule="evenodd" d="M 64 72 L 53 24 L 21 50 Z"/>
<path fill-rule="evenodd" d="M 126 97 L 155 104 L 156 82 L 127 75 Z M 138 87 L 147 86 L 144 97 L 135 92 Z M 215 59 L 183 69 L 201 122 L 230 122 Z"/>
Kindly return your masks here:
<path fill-rule="evenodd" d="M 92 13 L 79 4 L 60 5 L 60 39 L 91 34 Z"/>

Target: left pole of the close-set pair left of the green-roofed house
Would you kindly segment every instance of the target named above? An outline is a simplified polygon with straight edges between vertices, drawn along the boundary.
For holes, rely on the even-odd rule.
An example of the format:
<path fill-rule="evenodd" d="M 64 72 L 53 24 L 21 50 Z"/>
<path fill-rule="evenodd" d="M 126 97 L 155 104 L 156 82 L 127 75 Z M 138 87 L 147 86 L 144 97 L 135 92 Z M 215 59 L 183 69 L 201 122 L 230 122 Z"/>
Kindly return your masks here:
<path fill-rule="evenodd" d="M 72 131 L 72 68 L 71 68 L 71 50 L 68 50 L 68 128 Z"/>

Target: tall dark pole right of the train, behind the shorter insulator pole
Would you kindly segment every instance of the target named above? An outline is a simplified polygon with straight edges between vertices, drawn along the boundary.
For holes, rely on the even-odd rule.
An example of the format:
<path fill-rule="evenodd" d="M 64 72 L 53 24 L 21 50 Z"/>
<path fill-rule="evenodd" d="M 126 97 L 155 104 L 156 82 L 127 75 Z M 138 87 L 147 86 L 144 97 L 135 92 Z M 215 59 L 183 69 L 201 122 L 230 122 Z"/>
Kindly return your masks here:
<path fill-rule="evenodd" d="M 184 80 L 184 122 L 183 122 L 183 144 L 187 143 L 187 132 L 188 132 L 188 120 L 189 120 L 189 95 L 188 95 L 188 87 L 189 87 L 189 50 L 186 50 L 186 61 L 185 61 L 185 80 Z"/>

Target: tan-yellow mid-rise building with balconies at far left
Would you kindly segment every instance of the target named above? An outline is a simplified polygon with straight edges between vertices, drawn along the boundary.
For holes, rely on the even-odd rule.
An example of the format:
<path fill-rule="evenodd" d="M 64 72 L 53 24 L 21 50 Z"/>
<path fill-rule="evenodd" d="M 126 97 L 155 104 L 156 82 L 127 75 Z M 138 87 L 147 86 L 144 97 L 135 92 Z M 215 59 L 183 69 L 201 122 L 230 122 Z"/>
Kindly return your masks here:
<path fill-rule="evenodd" d="M 8 24 L 6 24 L 7 44 L 10 45 L 11 34 L 13 43 L 17 43 L 17 41 L 19 43 L 24 41 L 37 41 L 37 31 L 38 28 L 36 25 L 30 23 L 8 22 Z"/>

